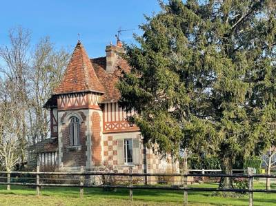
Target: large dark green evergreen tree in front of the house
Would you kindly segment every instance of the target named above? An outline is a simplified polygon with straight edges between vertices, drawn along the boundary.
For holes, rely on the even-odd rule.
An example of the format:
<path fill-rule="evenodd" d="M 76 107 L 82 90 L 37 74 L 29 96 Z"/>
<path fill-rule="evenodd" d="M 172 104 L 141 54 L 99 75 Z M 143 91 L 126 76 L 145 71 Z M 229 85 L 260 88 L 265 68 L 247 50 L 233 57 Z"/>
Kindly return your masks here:
<path fill-rule="evenodd" d="M 214 152 L 226 174 L 259 152 L 275 113 L 274 1 L 170 0 L 146 17 L 118 84 L 146 143 L 161 154 Z M 275 115 L 274 115 L 275 116 Z M 221 187 L 231 185 L 228 178 Z"/>

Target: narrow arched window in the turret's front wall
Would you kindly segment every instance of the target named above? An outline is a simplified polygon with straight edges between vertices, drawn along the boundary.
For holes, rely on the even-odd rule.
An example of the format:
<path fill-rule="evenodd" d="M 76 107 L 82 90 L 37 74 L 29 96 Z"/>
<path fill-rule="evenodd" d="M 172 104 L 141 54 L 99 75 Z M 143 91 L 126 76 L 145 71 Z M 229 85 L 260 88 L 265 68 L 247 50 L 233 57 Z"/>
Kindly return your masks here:
<path fill-rule="evenodd" d="M 70 146 L 80 145 L 79 127 L 79 119 L 76 116 L 72 116 L 69 123 Z"/>

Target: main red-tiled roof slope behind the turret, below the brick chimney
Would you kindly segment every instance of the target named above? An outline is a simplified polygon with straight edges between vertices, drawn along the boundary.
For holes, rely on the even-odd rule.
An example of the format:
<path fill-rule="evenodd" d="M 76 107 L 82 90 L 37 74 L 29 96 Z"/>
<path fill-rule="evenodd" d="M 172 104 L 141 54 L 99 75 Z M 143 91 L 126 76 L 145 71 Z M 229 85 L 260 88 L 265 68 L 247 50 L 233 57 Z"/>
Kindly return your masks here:
<path fill-rule="evenodd" d="M 106 72 L 106 57 L 91 59 L 91 63 L 98 76 L 99 81 L 105 88 L 105 93 L 101 96 L 101 102 L 116 102 L 120 98 L 119 90 L 116 87 L 121 70 L 129 71 L 130 67 L 124 59 L 118 59 L 113 73 Z"/>

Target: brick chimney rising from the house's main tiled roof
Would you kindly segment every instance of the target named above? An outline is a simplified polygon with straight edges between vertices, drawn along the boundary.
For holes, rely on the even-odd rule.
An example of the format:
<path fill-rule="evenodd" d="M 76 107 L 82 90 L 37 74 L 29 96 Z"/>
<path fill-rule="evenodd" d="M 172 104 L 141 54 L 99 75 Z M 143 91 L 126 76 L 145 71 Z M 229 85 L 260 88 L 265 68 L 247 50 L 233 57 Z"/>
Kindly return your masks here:
<path fill-rule="evenodd" d="M 117 59 L 120 58 L 119 54 L 124 53 L 121 41 L 117 41 L 117 45 L 106 46 L 106 72 L 112 73 L 116 69 Z"/>

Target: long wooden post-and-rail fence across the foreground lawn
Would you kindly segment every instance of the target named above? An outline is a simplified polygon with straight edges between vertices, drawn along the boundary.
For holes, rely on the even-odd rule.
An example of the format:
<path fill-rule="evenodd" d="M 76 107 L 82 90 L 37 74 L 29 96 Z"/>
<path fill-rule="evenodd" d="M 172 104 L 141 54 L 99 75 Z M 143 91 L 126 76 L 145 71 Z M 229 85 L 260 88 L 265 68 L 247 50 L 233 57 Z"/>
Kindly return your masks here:
<path fill-rule="evenodd" d="M 131 168 L 131 167 L 130 167 Z M 253 193 L 256 192 L 267 192 L 276 193 L 276 189 L 253 189 L 253 179 L 254 178 L 276 178 L 276 175 L 263 175 L 263 174 L 253 174 L 253 168 L 248 168 L 247 174 L 135 174 L 132 173 L 114 173 L 114 172 L 84 172 L 83 167 L 81 167 L 80 172 L 40 172 L 39 167 L 37 167 L 37 172 L 0 172 L 2 175 L 6 175 L 7 181 L 0 181 L 0 185 L 23 185 L 23 186 L 33 186 L 37 189 L 37 196 L 41 195 L 41 187 L 79 187 L 80 197 L 83 198 L 83 188 L 87 187 L 98 187 L 98 188 L 124 188 L 129 189 L 129 197 L 132 200 L 133 189 L 166 189 L 166 190 L 182 190 L 184 191 L 184 205 L 188 205 L 188 192 L 189 191 L 204 191 L 204 192 L 246 192 L 248 193 L 248 205 L 253 205 Z M 10 181 L 10 176 L 17 175 L 33 175 L 36 176 L 36 183 L 18 183 Z M 41 183 L 41 176 L 77 176 L 79 178 L 79 183 Z M 125 176 L 128 177 L 128 185 L 90 185 L 85 184 L 85 176 Z M 135 185 L 133 184 L 133 177 L 178 177 L 181 178 L 181 185 Z M 203 188 L 203 187 L 188 187 L 188 177 L 209 177 L 209 178 L 246 178 L 248 180 L 248 189 L 236 189 L 236 188 Z"/>

